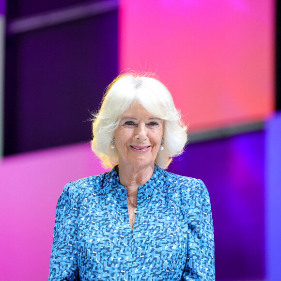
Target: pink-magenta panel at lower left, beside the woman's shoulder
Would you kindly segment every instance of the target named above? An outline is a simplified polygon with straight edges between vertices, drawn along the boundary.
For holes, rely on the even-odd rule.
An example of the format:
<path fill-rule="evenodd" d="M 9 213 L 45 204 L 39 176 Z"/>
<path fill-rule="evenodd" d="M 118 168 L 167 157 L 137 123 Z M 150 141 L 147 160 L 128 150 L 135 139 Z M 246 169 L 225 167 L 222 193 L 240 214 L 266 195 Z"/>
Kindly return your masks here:
<path fill-rule="evenodd" d="M 56 203 L 63 186 L 104 171 L 86 144 L 2 159 L 1 280 L 47 280 Z"/>

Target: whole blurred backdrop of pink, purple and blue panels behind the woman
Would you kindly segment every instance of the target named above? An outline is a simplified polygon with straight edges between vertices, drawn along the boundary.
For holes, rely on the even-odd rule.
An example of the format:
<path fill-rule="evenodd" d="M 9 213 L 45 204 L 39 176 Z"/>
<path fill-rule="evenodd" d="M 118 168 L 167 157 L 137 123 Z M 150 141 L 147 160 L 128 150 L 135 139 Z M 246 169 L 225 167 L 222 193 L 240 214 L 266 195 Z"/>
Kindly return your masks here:
<path fill-rule="evenodd" d="M 189 124 L 169 171 L 209 190 L 216 280 L 281 280 L 280 18 L 275 0 L 0 0 L 1 280 L 47 280 L 57 200 L 105 172 L 91 112 L 128 69 Z"/>

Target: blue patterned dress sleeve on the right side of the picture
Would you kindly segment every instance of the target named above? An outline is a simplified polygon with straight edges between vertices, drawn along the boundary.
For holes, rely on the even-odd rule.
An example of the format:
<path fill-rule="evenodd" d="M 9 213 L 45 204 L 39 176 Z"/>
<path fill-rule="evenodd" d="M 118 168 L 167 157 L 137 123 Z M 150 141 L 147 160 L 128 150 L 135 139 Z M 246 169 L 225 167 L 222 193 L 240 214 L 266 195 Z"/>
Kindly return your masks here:
<path fill-rule="evenodd" d="M 188 253 L 181 281 L 215 281 L 214 228 L 210 197 L 203 182 L 188 203 Z"/>

